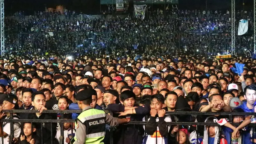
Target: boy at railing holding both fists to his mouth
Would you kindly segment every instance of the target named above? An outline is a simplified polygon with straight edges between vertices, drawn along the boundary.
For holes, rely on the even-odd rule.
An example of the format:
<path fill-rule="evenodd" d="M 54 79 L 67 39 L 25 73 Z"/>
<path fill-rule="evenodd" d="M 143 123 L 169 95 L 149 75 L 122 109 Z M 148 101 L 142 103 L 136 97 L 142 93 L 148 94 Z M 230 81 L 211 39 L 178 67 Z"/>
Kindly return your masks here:
<path fill-rule="evenodd" d="M 163 109 L 164 97 L 162 94 L 155 94 L 150 99 L 150 117 L 146 126 L 143 126 L 147 135 L 145 136 L 143 143 L 145 144 L 168 144 L 167 135 L 170 130 L 170 126 L 166 125 L 166 122 L 171 122 L 171 117 L 165 115 Z M 143 118 L 145 121 L 145 117 Z M 158 125 L 156 125 L 158 122 Z"/>

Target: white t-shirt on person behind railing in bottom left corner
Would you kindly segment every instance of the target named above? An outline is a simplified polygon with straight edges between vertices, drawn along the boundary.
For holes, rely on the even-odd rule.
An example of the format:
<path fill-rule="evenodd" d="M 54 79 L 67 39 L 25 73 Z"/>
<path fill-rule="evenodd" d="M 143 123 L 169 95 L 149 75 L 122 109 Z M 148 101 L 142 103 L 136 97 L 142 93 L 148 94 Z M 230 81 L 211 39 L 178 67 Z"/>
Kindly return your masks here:
<path fill-rule="evenodd" d="M 4 119 L 9 119 L 9 118 L 10 117 L 5 117 Z M 13 117 L 13 119 L 19 119 L 19 118 Z M 8 136 L 4 137 L 4 144 L 8 144 L 9 143 L 8 142 L 8 138 L 9 138 L 9 135 L 11 134 L 10 123 L 4 122 L 3 125 L 4 125 L 3 131 L 8 134 Z M 13 130 L 14 130 L 14 137 L 18 138 L 20 136 L 20 132 L 21 132 L 21 125 L 20 125 L 20 123 L 13 123 Z M 0 138 L 0 144 L 2 144 L 2 137 Z"/>

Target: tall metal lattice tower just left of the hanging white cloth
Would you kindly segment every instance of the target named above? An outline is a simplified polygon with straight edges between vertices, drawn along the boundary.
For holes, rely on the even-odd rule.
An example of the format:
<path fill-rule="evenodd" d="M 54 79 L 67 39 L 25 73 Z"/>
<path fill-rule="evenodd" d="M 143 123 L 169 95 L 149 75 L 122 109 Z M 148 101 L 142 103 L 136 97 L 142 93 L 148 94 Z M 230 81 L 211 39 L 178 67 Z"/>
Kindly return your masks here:
<path fill-rule="evenodd" d="M 254 0 L 255 1 L 255 0 Z M 231 2 L 232 4 L 231 4 L 231 6 L 232 6 L 232 19 L 231 19 L 231 22 L 232 22 L 232 45 L 231 45 L 231 54 L 232 55 L 235 55 L 235 52 L 236 52 L 236 34 L 235 34 L 235 32 L 236 32 L 236 27 L 235 27 L 235 13 L 236 13 L 236 11 L 235 11 L 235 0 L 232 0 L 232 2 Z"/>

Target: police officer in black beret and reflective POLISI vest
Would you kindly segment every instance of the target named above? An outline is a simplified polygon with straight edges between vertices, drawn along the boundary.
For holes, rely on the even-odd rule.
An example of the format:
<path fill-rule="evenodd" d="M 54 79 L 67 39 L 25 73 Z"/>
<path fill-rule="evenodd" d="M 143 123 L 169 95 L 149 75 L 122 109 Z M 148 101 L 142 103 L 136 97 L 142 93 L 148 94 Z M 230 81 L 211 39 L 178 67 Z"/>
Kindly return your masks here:
<path fill-rule="evenodd" d="M 92 95 L 97 96 L 93 89 L 82 90 L 76 94 L 78 107 L 83 112 L 76 119 L 76 136 L 73 144 L 104 144 L 106 124 L 118 126 L 128 123 L 129 119 L 118 119 L 106 114 L 103 110 L 94 109 L 90 106 Z"/>

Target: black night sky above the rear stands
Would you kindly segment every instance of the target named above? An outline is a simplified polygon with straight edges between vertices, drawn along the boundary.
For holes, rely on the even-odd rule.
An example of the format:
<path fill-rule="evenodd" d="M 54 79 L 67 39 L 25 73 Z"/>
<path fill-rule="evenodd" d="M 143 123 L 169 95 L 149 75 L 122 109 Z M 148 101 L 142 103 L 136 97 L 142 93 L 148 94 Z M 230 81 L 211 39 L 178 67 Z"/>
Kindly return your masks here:
<path fill-rule="evenodd" d="M 206 0 L 179 0 L 179 9 L 205 9 Z M 244 0 L 244 9 L 253 9 L 253 0 Z M 236 0 L 236 9 L 243 10 L 243 0 Z M 82 11 L 86 14 L 100 12 L 100 0 L 5 0 L 5 14 L 11 15 L 17 11 L 33 14 L 34 11 L 44 11 L 46 7 L 56 8 L 64 5 L 68 10 Z M 207 9 L 231 9 L 231 0 L 207 0 Z"/>

